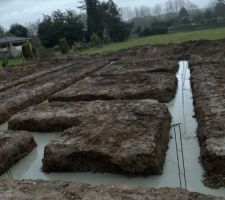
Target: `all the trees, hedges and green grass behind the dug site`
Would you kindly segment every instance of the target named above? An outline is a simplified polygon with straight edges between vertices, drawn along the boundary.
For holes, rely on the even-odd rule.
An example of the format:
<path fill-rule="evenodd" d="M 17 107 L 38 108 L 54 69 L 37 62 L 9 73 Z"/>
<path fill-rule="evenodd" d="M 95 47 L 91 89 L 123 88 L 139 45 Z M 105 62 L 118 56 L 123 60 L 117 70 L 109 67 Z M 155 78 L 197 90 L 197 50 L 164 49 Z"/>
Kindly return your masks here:
<path fill-rule="evenodd" d="M 0 36 L 30 37 L 32 49 L 23 54 L 25 59 L 109 53 L 149 43 L 225 36 L 224 0 L 216 0 L 205 9 L 189 0 L 168 0 L 164 5 L 137 8 L 118 8 L 112 0 L 84 0 L 78 8 L 79 12 L 75 8 L 56 10 L 27 26 L 12 24 L 9 30 L 0 26 Z M 7 66 L 24 59 L 2 60 L 2 66 Z"/>

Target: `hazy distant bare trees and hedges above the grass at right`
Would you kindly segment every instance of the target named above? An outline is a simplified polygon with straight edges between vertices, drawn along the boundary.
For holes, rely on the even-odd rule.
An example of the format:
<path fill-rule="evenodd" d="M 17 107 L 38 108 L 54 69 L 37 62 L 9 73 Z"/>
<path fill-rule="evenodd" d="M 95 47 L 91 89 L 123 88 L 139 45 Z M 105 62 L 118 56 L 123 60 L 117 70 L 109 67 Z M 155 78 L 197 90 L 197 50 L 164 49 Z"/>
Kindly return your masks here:
<path fill-rule="evenodd" d="M 225 24 L 225 0 L 213 0 L 207 9 L 199 9 L 188 0 L 167 0 L 164 8 L 164 13 L 152 15 L 151 12 L 147 15 L 147 11 L 152 9 L 142 7 L 142 12 L 138 12 L 139 17 L 131 20 L 134 23 L 134 33 L 148 36 L 185 28 L 192 30 L 198 26 Z"/>

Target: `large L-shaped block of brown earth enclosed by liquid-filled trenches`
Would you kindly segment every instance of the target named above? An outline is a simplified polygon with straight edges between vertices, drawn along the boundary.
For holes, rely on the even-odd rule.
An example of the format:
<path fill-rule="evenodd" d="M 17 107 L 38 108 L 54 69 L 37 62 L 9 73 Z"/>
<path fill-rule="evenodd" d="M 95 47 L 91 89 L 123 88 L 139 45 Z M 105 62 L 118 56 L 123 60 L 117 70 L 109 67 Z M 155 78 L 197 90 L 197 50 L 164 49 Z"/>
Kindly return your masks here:
<path fill-rule="evenodd" d="M 73 127 L 46 146 L 45 171 L 160 174 L 170 121 L 166 106 L 155 100 L 46 102 L 14 115 L 9 128 L 46 132 Z"/>

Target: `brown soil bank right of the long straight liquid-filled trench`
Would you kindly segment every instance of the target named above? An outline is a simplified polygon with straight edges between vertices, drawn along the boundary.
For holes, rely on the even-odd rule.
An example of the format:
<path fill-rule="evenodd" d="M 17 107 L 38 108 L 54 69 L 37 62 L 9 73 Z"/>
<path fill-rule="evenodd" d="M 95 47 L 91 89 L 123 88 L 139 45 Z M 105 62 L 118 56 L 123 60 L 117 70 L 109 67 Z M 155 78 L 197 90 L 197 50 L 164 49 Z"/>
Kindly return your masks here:
<path fill-rule="evenodd" d="M 215 177 L 217 185 L 225 185 L 225 64 L 193 60 L 191 71 L 201 160 L 206 176 Z"/>

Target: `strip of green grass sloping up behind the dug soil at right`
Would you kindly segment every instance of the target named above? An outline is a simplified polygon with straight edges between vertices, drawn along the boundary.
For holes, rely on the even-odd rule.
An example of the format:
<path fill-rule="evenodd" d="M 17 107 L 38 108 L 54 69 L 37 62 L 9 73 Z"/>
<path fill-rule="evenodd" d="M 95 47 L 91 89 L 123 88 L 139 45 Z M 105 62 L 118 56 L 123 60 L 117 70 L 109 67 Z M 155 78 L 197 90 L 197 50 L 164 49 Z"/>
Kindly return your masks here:
<path fill-rule="evenodd" d="M 216 40 L 225 38 L 225 28 L 205 29 L 198 31 L 188 31 L 179 33 L 169 33 L 166 35 L 157 35 L 150 37 L 142 37 L 130 39 L 125 42 L 113 43 L 104 45 L 101 48 L 91 48 L 84 51 L 84 54 L 107 54 L 118 51 L 120 49 L 127 49 L 146 44 L 168 44 L 181 43 L 189 40 Z"/>

